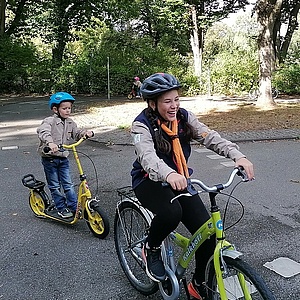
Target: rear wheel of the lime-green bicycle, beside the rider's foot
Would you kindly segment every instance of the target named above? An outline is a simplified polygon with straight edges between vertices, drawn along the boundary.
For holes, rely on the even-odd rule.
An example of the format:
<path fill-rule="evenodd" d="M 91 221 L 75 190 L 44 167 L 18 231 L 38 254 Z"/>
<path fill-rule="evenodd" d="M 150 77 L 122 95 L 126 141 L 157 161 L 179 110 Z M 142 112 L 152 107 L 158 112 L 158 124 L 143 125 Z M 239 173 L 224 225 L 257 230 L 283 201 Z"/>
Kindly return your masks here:
<path fill-rule="evenodd" d="M 141 294 L 157 292 L 158 284 L 145 271 L 141 253 L 150 224 L 139 208 L 131 202 L 119 204 L 114 220 L 114 241 L 120 265 L 131 285 Z"/>

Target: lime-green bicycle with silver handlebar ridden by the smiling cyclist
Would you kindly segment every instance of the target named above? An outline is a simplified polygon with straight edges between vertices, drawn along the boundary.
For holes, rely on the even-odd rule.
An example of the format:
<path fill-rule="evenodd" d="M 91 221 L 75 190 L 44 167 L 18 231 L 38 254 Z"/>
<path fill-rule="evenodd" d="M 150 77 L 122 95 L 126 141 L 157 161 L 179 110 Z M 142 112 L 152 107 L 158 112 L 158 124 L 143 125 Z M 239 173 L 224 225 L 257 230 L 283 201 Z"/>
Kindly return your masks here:
<path fill-rule="evenodd" d="M 153 214 L 141 206 L 130 187 L 118 190 L 120 201 L 117 204 L 114 220 L 115 247 L 121 267 L 136 290 L 144 295 L 151 295 L 159 289 L 163 299 L 175 300 L 180 296 L 180 285 L 183 283 L 187 297 L 190 299 L 184 277 L 185 271 L 196 250 L 206 239 L 215 235 L 216 248 L 214 255 L 207 263 L 206 280 L 203 283 L 208 299 L 275 300 L 261 276 L 241 259 L 242 253 L 225 239 L 216 196 L 234 182 L 236 175 L 241 177 L 240 182 L 248 181 L 242 169 L 234 168 L 228 181 L 224 184 L 209 187 L 200 180 L 189 179 L 188 192 L 174 198 L 191 196 L 203 193 L 203 191 L 208 192 L 211 218 L 190 238 L 173 231 L 165 239 L 162 245 L 162 258 L 167 279 L 159 283 L 152 281 L 147 276 L 141 255 Z M 202 190 L 196 190 L 193 185 L 199 186 Z M 232 192 L 229 197 L 233 197 Z M 177 263 L 174 257 L 174 244 L 182 249 Z"/>

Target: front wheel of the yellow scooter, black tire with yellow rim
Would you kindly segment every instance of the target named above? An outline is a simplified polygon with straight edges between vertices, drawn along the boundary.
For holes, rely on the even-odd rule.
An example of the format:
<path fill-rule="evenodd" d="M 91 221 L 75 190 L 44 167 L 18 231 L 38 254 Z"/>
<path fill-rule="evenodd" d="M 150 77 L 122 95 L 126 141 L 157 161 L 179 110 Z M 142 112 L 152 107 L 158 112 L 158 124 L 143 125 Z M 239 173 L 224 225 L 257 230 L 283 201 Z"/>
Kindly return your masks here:
<path fill-rule="evenodd" d="M 98 203 L 91 203 L 90 206 L 92 217 L 89 216 L 86 210 L 84 211 L 86 224 L 95 237 L 104 239 L 110 231 L 109 219 L 103 209 L 98 206 Z"/>

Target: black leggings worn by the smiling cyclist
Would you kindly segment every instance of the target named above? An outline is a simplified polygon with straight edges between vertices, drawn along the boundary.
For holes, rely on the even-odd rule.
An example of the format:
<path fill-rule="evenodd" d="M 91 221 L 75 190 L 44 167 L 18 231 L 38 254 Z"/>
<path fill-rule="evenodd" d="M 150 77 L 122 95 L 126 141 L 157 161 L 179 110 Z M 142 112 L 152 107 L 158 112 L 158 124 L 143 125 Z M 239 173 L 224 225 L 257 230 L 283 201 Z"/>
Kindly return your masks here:
<path fill-rule="evenodd" d="M 178 193 L 170 187 L 163 187 L 161 182 L 147 179 L 135 189 L 135 194 L 142 205 L 154 214 L 147 239 L 150 247 L 159 247 L 180 222 L 194 234 L 210 217 L 198 195 L 183 196 L 171 203 L 170 200 Z M 197 282 L 204 280 L 205 266 L 213 254 L 214 247 L 215 238 L 212 237 L 196 251 L 194 277 Z"/>

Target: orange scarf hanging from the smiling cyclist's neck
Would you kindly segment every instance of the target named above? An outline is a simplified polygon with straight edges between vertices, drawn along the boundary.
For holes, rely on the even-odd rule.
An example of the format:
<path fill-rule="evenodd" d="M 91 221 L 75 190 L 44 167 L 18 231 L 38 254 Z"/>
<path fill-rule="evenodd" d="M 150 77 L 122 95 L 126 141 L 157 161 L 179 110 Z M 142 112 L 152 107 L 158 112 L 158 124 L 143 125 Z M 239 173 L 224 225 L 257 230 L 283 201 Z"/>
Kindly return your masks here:
<path fill-rule="evenodd" d="M 175 158 L 175 163 L 178 169 L 178 173 L 185 176 L 186 178 L 189 178 L 189 171 L 186 164 L 186 160 L 181 148 L 181 144 L 179 141 L 178 136 L 178 121 L 174 120 L 171 123 L 171 129 L 168 128 L 165 124 L 161 123 L 160 120 L 158 120 L 158 125 L 161 126 L 163 131 L 171 138 L 172 140 L 172 148 L 173 148 L 173 154 Z"/>

